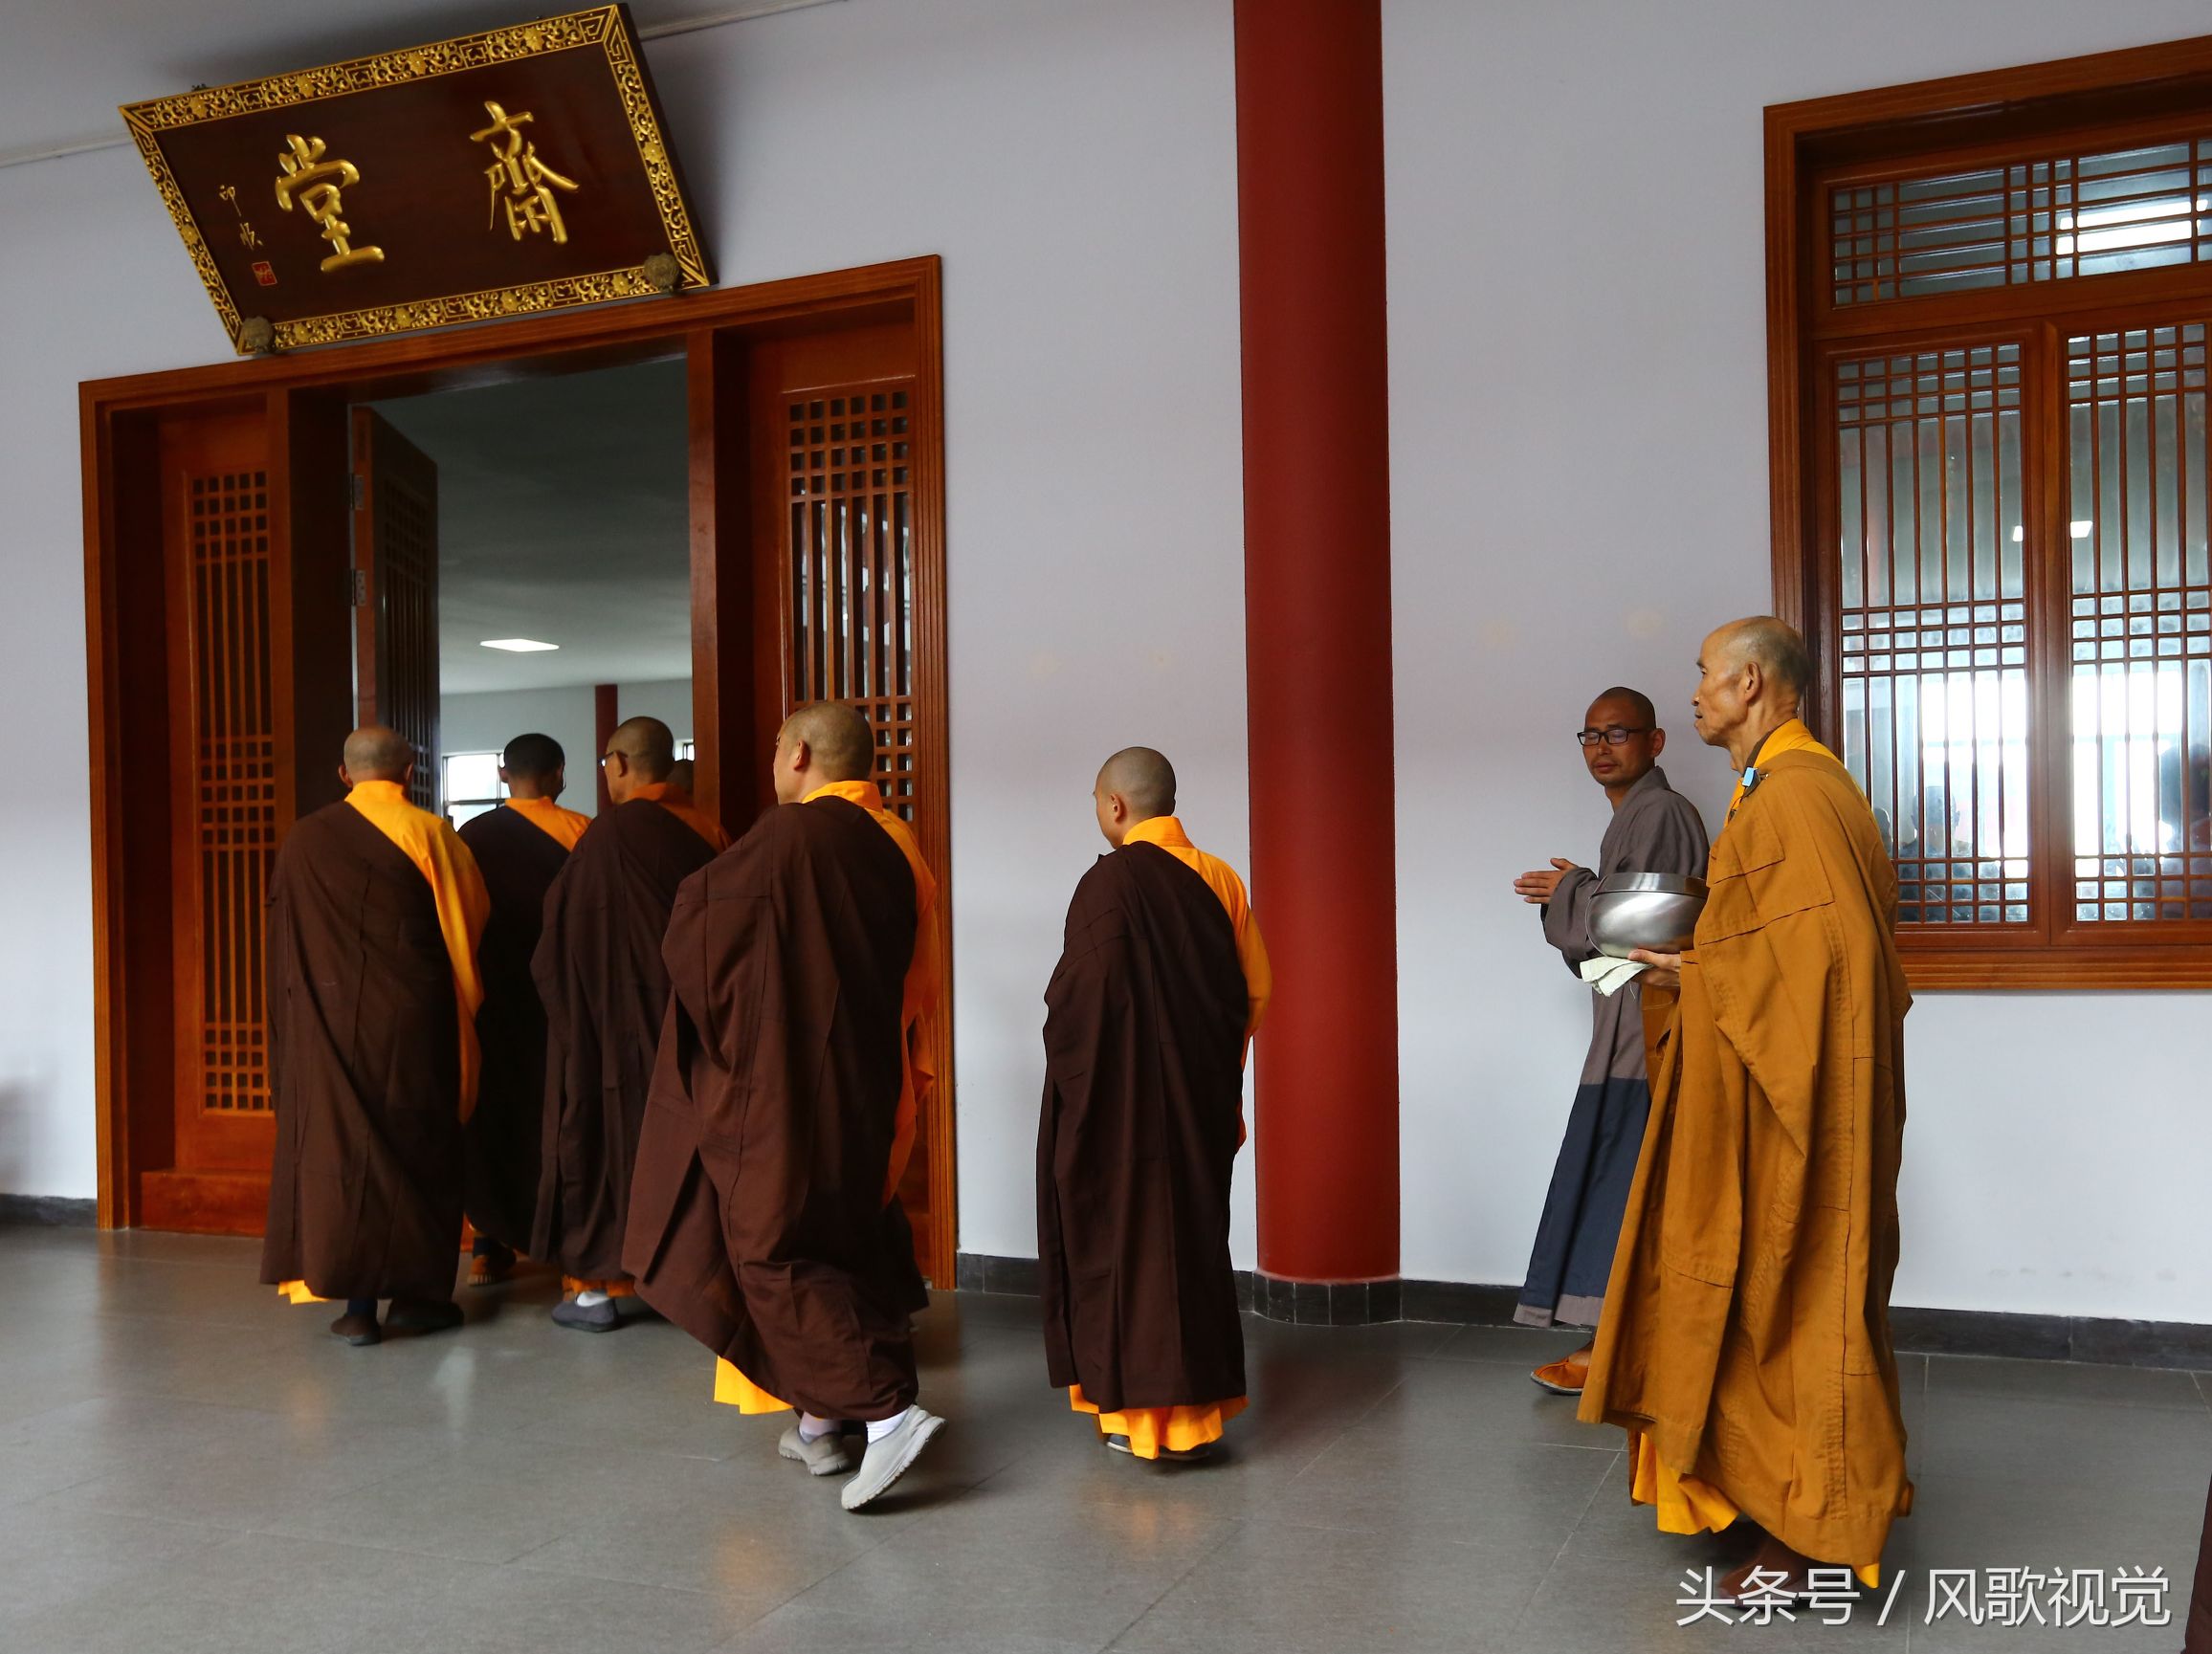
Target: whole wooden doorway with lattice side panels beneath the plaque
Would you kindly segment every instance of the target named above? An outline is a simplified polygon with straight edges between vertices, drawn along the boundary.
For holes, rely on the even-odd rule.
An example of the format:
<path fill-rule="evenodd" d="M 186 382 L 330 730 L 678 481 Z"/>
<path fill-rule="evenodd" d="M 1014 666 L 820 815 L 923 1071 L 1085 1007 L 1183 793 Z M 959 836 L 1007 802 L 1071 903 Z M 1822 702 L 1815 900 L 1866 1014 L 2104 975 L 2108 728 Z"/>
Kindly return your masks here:
<path fill-rule="evenodd" d="M 447 756 L 535 727 L 588 763 L 655 712 L 737 834 L 785 712 L 849 701 L 949 942 L 938 316 L 916 259 L 82 387 L 104 1225 L 261 1229 L 268 871 L 365 716 L 456 809 L 495 794 Z M 500 679 L 502 637 L 562 648 Z M 597 807 L 582 776 L 564 803 Z M 900 1192 L 951 1280 L 949 1004 L 938 1039 Z"/>

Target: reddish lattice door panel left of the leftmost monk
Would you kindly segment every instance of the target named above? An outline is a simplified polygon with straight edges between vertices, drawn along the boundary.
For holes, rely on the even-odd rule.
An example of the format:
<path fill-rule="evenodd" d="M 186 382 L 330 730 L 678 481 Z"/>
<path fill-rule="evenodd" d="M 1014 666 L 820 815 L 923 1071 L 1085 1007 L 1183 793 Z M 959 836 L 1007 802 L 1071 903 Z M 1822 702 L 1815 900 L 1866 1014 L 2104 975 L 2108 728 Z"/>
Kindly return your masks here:
<path fill-rule="evenodd" d="M 265 1163 L 268 884 L 276 860 L 270 473 L 259 425 L 164 442 L 177 982 L 177 1165 Z"/>

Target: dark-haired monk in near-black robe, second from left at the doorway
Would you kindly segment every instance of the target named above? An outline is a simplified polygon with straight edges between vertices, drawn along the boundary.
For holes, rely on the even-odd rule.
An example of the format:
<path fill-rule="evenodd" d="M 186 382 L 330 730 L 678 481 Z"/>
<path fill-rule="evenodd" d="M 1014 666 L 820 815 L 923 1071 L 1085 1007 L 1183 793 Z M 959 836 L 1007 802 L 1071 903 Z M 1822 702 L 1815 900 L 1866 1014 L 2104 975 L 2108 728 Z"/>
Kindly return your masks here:
<path fill-rule="evenodd" d="M 460 842 L 491 893 L 478 964 L 484 1004 L 476 1039 L 484 1077 L 469 1117 L 467 1212 L 476 1229 L 471 1287 L 504 1280 L 531 1243 L 546 1114 L 546 1013 L 531 980 L 544 929 L 546 891 L 568 862 L 591 816 L 560 807 L 566 754 L 549 734 L 518 734 L 500 754 L 507 803 L 471 816 Z"/>

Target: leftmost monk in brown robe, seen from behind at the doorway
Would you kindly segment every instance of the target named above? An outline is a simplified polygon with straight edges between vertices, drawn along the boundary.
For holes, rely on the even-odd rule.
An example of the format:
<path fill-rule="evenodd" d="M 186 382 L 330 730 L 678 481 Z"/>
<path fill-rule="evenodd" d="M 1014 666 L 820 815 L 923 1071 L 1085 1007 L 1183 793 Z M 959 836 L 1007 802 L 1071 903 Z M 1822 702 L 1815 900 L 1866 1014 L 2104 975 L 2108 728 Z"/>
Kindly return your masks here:
<path fill-rule="evenodd" d="M 276 1161 L 261 1278 L 343 1298 L 330 1331 L 460 1325 L 462 1121 L 476 1101 L 487 898 L 445 818 L 407 803 L 414 745 L 354 730 L 347 796 L 285 834 L 270 878 Z"/>

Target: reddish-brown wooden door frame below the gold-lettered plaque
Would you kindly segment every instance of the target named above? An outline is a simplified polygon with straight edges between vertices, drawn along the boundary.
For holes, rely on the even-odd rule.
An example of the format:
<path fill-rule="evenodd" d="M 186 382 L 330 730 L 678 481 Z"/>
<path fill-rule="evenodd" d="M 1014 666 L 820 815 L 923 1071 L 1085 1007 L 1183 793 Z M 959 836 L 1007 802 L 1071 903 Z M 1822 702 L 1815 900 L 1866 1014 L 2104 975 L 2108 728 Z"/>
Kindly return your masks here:
<path fill-rule="evenodd" d="M 571 374 L 681 354 L 688 371 L 690 416 L 690 570 L 692 570 L 692 708 L 699 732 L 699 798 L 717 809 L 723 796 L 723 730 L 750 739 L 754 685 L 745 672 L 726 672 L 750 657 L 750 484 L 748 484 L 748 336 L 814 332 L 863 323 L 907 323 L 916 341 L 914 555 L 918 641 L 925 674 L 918 701 L 931 710 L 938 752 L 949 754 L 945 661 L 945 376 L 940 263 L 896 263 L 836 270 L 818 276 L 768 281 L 701 294 L 646 299 L 628 305 L 518 318 L 484 327 L 411 334 L 363 345 L 341 345 L 257 360 L 226 360 L 159 374 L 86 380 L 77 387 L 84 462 L 84 619 L 86 685 L 91 699 L 93 792 L 93 1039 L 100 1139 L 100 1227 L 131 1227 L 139 1218 L 139 1183 L 131 1165 L 131 1119 L 173 1108 L 168 1061 L 153 1046 L 168 1041 L 166 969 L 168 924 L 148 909 L 168 900 L 168 884 L 133 851 L 124 823 L 148 807 L 144 783 L 144 657 L 146 606 L 126 601 L 146 577 L 148 544 L 159 548 L 159 502 L 124 486 L 144 475 L 164 416 L 192 409 L 261 405 L 270 427 L 272 537 L 290 553 L 312 537 L 323 515 L 343 520 L 347 489 L 345 407 L 352 402 L 425 391 L 465 389 L 513 378 Z M 305 442 L 292 433 L 305 431 Z M 312 451 L 303 453 L 301 447 Z M 327 451 L 325 451 L 327 449 Z M 325 478 L 327 471 L 327 478 Z M 723 546 L 748 548 L 748 562 L 721 559 Z M 748 570 L 745 579 L 723 573 Z M 927 570 L 927 577 L 925 577 Z M 732 650 L 723 655 L 721 639 Z M 768 663 L 761 663 L 763 672 Z M 743 679 L 743 681 L 730 681 Z M 345 697 L 352 708 L 352 694 Z M 301 730 L 299 752 L 327 739 Z M 281 785 L 292 787 L 292 756 L 279 752 Z M 765 758 L 763 758 L 765 761 Z M 732 803 L 745 789 L 730 789 Z M 949 787 L 945 787 L 949 794 Z M 164 789 L 166 794 L 166 789 Z M 938 840 L 936 873 L 951 893 L 949 798 L 931 798 Z M 157 884 L 159 889 L 148 889 Z M 951 938 L 947 935 L 947 953 Z M 146 1015 L 135 1015 L 144 1011 Z M 157 1030 L 157 1033 L 155 1033 Z M 949 1041 L 949 1033 L 947 1033 Z M 144 1079 L 142 1079 L 144 1075 Z M 951 1280 L 958 1236 L 953 1207 L 953 1097 L 951 1086 L 931 1108 L 929 1130 L 945 1150 L 942 1265 Z M 155 1097 L 159 1092 L 159 1097 Z M 931 1201 L 938 1190 L 931 1190 Z"/>

